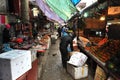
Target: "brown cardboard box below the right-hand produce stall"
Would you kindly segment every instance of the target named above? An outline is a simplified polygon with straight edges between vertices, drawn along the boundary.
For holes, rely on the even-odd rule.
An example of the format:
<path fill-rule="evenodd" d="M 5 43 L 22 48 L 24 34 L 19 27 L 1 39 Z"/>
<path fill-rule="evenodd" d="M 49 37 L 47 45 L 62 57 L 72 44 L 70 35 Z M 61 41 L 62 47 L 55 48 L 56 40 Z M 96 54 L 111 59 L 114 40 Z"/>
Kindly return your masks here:
<path fill-rule="evenodd" d="M 106 80 L 106 73 L 99 66 L 96 68 L 94 80 Z"/>

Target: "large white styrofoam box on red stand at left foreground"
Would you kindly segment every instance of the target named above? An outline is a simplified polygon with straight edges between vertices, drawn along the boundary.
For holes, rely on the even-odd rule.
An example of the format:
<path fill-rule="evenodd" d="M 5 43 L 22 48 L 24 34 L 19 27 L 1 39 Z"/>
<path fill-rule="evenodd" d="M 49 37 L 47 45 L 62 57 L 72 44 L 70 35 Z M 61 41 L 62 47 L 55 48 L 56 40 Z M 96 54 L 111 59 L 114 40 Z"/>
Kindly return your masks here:
<path fill-rule="evenodd" d="M 31 52 L 28 50 L 12 50 L 0 54 L 0 80 L 16 80 L 31 67 Z"/>

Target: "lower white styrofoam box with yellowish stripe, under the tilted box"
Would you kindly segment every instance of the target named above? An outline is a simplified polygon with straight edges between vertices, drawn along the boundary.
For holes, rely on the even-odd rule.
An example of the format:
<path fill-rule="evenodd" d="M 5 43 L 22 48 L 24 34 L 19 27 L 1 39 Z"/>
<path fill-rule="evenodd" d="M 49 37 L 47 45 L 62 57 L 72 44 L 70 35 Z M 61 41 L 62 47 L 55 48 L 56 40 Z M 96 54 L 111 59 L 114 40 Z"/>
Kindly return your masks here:
<path fill-rule="evenodd" d="M 74 79 L 81 79 L 88 76 L 88 65 L 85 64 L 81 67 L 75 67 L 69 63 L 67 63 L 67 72 L 74 78 Z"/>

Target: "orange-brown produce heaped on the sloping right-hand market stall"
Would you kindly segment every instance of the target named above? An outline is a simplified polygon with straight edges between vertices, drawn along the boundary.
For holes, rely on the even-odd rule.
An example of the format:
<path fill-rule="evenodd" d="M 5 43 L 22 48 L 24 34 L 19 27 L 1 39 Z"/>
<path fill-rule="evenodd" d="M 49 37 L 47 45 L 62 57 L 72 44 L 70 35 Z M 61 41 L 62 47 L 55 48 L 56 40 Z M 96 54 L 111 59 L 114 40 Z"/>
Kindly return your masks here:
<path fill-rule="evenodd" d="M 119 40 L 100 40 L 100 38 L 93 38 L 92 41 L 95 43 L 97 42 L 96 45 L 91 45 L 90 47 L 86 47 L 86 49 L 89 50 L 91 54 L 95 55 L 102 62 L 106 62 L 113 55 L 120 51 Z"/>

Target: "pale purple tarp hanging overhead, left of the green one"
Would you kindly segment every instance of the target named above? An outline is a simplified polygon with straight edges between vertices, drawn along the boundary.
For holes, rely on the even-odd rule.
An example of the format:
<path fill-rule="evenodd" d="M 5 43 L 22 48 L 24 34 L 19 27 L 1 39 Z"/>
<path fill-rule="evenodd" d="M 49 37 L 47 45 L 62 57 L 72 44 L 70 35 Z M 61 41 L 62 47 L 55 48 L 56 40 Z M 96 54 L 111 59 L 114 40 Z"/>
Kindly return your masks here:
<path fill-rule="evenodd" d="M 44 2 L 44 0 L 36 0 L 37 5 L 42 10 L 42 12 L 47 16 L 49 19 L 57 21 L 60 24 L 64 24 L 64 20 L 61 19 L 57 14 L 50 10 L 49 6 Z"/>

